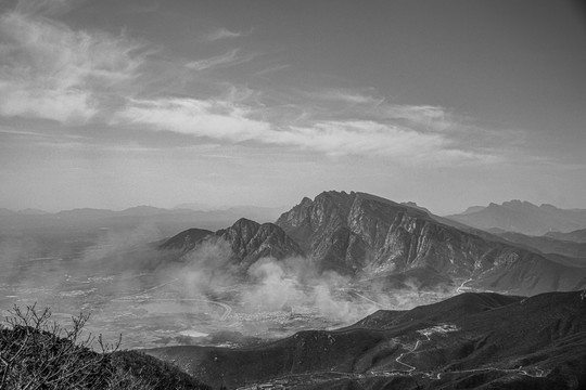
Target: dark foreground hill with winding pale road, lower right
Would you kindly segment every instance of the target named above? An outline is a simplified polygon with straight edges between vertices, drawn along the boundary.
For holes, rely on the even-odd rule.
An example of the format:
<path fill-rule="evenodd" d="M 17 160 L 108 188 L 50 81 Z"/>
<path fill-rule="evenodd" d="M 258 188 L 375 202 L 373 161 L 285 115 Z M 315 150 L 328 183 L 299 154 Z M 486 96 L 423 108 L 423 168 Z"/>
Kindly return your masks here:
<path fill-rule="evenodd" d="M 463 294 L 354 326 L 302 332 L 246 349 L 169 347 L 173 361 L 213 386 L 295 389 L 583 389 L 586 300 Z"/>

